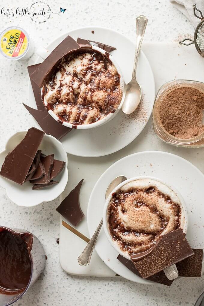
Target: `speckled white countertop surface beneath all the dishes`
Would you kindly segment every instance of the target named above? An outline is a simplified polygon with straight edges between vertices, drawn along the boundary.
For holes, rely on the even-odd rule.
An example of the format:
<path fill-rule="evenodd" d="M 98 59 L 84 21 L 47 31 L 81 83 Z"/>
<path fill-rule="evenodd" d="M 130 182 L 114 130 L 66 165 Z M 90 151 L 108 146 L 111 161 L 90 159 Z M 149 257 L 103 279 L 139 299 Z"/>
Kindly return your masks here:
<path fill-rule="evenodd" d="M 27 2 L 27 3 L 26 3 Z M 49 0 L 49 6 L 64 14 L 52 15 L 44 24 L 35 24 L 28 17 L 3 17 L 0 15 L 0 30 L 18 25 L 30 35 L 35 46 L 46 46 L 53 38 L 74 28 L 102 26 L 112 28 L 135 39 L 135 17 L 144 14 L 149 23 L 146 41 L 178 41 L 183 35 L 193 34 L 194 28 L 187 18 L 177 11 L 168 0 Z M 1 1 L 1 8 L 30 6 L 32 1 Z M 6 140 L 18 130 L 31 126 L 31 119 L 22 102 L 27 102 L 27 66 L 35 62 L 34 54 L 25 62 L 10 62 L 0 57 L 0 150 Z M 145 134 L 147 127 L 142 132 Z M 134 144 L 130 145 L 132 148 Z M 157 149 L 157 148 L 154 148 Z M 123 157 L 121 151 L 121 157 Z M 73 157 L 69 156 L 70 159 Z M 80 158 L 78 158 L 80 159 Z M 103 158 L 102 158 L 103 160 Z M 114 155 L 110 160 L 114 162 Z M 77 277 L 66 274 L 60 267 L 56 243 L 59 237 L 59 215 L 55 211 L 59 199 L 37 207 L 18 207 L 10 202 L 4 189 L 0 189 L 0 224 L 25 228 L 34 233 L 46 251 L 46 268 L 42 277 L 15 305 L 193 305 L 202 291 L 203 277 L 186 281 L 181 279 L 170 288 L 147 286 L 125 279 Z M 72 252 L 72 246 L 70 246 Z"/>

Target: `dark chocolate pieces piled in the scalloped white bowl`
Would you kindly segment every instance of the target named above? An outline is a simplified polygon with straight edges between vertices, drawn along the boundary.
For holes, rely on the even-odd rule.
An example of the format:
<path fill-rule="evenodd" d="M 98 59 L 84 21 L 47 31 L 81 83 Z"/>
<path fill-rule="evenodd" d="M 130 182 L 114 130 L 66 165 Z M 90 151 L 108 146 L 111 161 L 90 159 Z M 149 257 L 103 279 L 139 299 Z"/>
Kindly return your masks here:
<path fill-rule="evenodd" d="M 60 174 L 65 162 L 45 156 L 39 150 L 45 133 L 32 127 L 24 139 L 5 158 L 0 175 L 20 185 L 30 181 L 33 190 L 59 183 L 53 179 Z"/>

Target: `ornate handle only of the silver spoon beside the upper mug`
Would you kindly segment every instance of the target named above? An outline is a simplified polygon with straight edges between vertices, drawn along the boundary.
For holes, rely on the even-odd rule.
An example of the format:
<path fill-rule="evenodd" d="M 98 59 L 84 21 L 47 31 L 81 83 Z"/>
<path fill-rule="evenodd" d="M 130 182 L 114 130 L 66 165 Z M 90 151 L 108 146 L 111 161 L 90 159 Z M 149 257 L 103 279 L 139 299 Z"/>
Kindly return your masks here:
<path fill-rule="evenodd" d="M 136 18 L 137 47 L 135 50 L 135 62 L 134 62 L 133 71 L 132 71 L 132 79 L 136 79 L 137 61 L 138 61 L 139 51 L 140 51 L 141 44 L 143 41 L 146 26 L 147 26 L 147 18 L 145 16 L 140 15 L 139 17 Z"/>

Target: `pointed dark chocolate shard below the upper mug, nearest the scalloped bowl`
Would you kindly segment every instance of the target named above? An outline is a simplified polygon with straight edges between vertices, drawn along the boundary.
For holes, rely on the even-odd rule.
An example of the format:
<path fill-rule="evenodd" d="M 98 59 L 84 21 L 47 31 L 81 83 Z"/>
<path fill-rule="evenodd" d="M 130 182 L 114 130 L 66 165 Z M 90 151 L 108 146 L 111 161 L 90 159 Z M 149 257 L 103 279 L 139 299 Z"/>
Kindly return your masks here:
<path fill-rule="evenodd" d="M 50 116 L 46 110 L 35 110 L 34 108 L 23 103 L 29 113 L 35 118 L 41 129 L 47 134 L 54 136 L 58 140 L 69 133 L 72 129 L 61 125 Z"/>

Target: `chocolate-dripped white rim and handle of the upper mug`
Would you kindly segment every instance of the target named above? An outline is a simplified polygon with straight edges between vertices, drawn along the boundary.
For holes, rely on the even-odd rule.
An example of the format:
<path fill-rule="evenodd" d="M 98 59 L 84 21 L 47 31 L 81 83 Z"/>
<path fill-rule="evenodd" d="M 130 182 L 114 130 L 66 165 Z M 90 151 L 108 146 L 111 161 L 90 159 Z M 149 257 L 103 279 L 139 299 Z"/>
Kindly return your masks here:
<path fill-rule="evenodd" d="M 84 50 L 87 49 L 87 45 L 80 45 L 81 48 L 83 48 Z M 95 47 L 95 46 L 91 46 L 91 49 L 92 50 L 96 50 L 98 51 L 99 53 L 105 55 L 107 54 L 108 52 L 106 52 L 105 50 L 101 49 L 101 48 L 98 48 L 98 47 Z M 50 52 L 47 51 L 45 48 L 43 47 L 39 47 L 36 51 L 36 53 L 43 59 L 45 59 L 49 54 Z M 77 54 L 77 51 L 76 51 L 76 54 Z M 120 69 L 120 67 L 118 66 L 117 62 L 114 60 L 114 58 L 112 57 L 111 54 L 109 54 L 109 60 L 113 63 L 113 65 L 116 67 L 117 69 L 117 72 L 120 74 L 120 88 L 121 88 L 121 92 L 122 92 L 122 98 L 121 98 L 121 102 L 117 108 L 117 110 L 114 112 L 114 113 L 109 113 L 107 116 L 105 116 L 104 118 L 96 121 L 96 122 L 93 122 L 93 123 L 90 123 L 90 124 L 84 124 L 84 125 L 77 125 L 77 129 L 92 129 L 92 128 L 96 128 L 100 125 L 103 125 L 105 123 L 107 123 L 108 121 L 110 121 L 111 119 L 113 119 L 116 114 L 119 112 L 119 110 L 121 109 L 122 107 L 122 104 L 124 102 L 124 98 L 125 98 L 125 83 L 124 83 L 124 79 L 123 79 L 123 75 L 122 75 L 122 71 Z M 41 88 L 41 94 L 43 92 L 43 88 Z M 44 105 L 46 106 L 47 105 L 47 101 L 45 99 L 45 97 L 43 97 L 42 95 L 42 99 L 43 99 L 43 103 Z M 52 111 L 52 110 L 48 110 L 48 113 L 56 120 L 58 121 L 59 117 Z M 66 122 L 66 121 L 63 121 L 62 125 L 65 125 L 69 128 L 72 128 L 72 123 L 70 122 Z"/>

